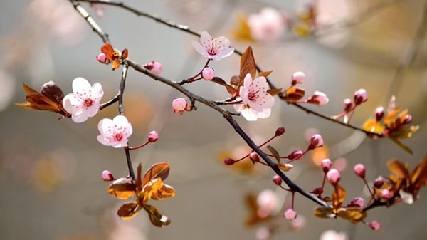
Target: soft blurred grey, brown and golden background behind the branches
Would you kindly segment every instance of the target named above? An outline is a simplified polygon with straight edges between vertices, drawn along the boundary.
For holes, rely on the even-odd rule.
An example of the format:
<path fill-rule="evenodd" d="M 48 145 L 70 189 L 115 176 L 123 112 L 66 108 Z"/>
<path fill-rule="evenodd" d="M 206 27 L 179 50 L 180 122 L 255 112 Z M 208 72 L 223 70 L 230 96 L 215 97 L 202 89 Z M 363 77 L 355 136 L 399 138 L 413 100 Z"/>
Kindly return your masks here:
<path fill-rule="evenodd" d="M 320 90 L 330 98 L 325 107 L 309 106 L 325 115 L 341 113 L 342 100 L 365 88 L 369 100 L 356 110 L 353 125 L 362 126 L 374 116 L 376 107 L 386 108 L 391 95 L 395 95 L 397 104 L 408 108 L 413 123 L 421 127 L 413 137 L 403 140 L 413 155 L 390 140 L 364 140 L 363 134 L 279 101 L 268 119 L 257 122 L 238 119 L 256 142 L 267 140 L 277 127 L 285 127 L 285 135 L 271 142 L 283 155 L 296 148 L 305 149 L 307 135 L 319 132 L 327 145 L 320 154 L 342 167 L 347 202 L 357 196 L 367 198 L 362 181 L 352 173 L 355 164 L 364 163 L 367 179 L 372 181 L 379 174 L 389 174 L 388 160 L 400 159 L 412 169 L 427 154 L 424 34 L 427 25 L 423 19 L 427 1 L 129 0 L 125 3 L 186 24 L 194 31 L 227 36 L 240 51 L 252 46 L 255 61 L 263 70 L 273 69 L 270 79 L 278 87 L 288 87 L 292 73 L 303 71 L 307 77 L 302 88 L 307 95 Z M 329 26 L 313 32 L 315 36 L 306 36 L 310 24 L 304 25 L 307 14 L 310 15 L 310 4 L 316 6 L 316 24 Z M 191 46 L 191 41 L 199 40 L 194 36 L 112 6 L 104 9 L 103 16 L 100 16 L 102 9 L 83 6 L 109 34 L 115 48 L 128 48 L 130 58 L 139 63 L 160 61 L 166 78 L 189 78 L 204 66 L 205 59 Z M 268 37 L 260 33 L 256 39 L 244 41 L 239 16 L 249 23 L 251 16 L 260 14 L 265 7 L 279 12 L 283 18 L 279 28 L 275 28 L 279 29 L 277 35 L 269 38 L 273 33 Z M 117 115 L 116 105 L 82 124 L 14 105 L 25 102 L 22 83 L 38 90 L 43 83 L 53 80 L 66 94 L 72 91 L 71 83 L 76 77 L 101 83 L 106 101 L 117 93 L 120 70 L 111 71 L 110 66 L 97 63 L 95 56 L 100 53 L 102 41 L 69 1 L 1 1 L 0 9 L 0 239 L 257 239 L 263 236 L 263 227 L 268 224 L 253 227 L 244 224 L 250 215 L 245 199 L 250 192 L 256 196 L 265 189 L 275 191 L 271 182 L 273 172 L 251 165 L 245 170 L 223 165 L 224 157 L 237 159 L 248 151 L 223 117 L 200 104 L 191 113 L 172 113 L 171 102 L 181 95 L 132 70 L 125 90 L 126 113 L 134 127 L 130 145 L 145 142 L 152 130 L 160 136 L 154 144 L 132 152 L 132 161 L 134 166 L 142 162 L 144 169 L 155 162 L 169 162 L 171 173 L 166 183 L 176 189 L 176 196 L 151 202 L 172 219 L 172 224 L 164 229 L 151 226 L 145 212 L 130 221 L 121 221 L 115 212 L 123 201 L 107 194 L 108 183 L 102 182 L 100 174 L 108 169 L 116 177 L 125 176 L 125 155 L 122 150 L 102 146 L 96 140 L 97 122 Z M 228 80 L 238 74 L 239 61 L 234 55 L 212 62 L 211 67 L 216 75 Z M 206 98 L 227 97 L 223 88 L 206 81 L 191 84 L 189 89 Z M 321 170 L 313 165 L 313 158 L 307 155 L 288 174 L 308 191 L 319 187 L 322 181 Z M 285 201 L 289 207 L 290 196 L 277 192 L 280 203 Z M 320 239 L 327 230 L 345 232 L 347 239 L 424 239 L 427 234 L 423 221 L 427 211 L 425 189 L 411 206 L 400 203 L 369 212 L 367 221 L 381 221 L 382 229 L 378 232 L 341 219 L 317 219 L 312 214 L 315 207 L 297 195 L 297 219 L 304 220 L 305 226 L 279 217 L 271 239 Z"/>

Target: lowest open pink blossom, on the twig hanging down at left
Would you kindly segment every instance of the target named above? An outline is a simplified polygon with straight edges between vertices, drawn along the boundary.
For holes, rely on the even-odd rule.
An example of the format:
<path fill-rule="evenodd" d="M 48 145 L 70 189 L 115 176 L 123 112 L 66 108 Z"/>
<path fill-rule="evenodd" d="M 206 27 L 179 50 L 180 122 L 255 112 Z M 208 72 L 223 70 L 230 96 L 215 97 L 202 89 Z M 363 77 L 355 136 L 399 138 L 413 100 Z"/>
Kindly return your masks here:
<path fill-rule="evenodd" d="M 97 140 L 105 146 L 125 147 L 127 138 L 132 135 L 132 125 L 123 115 L 115 116 L 112 120 L 104 118 L 98 122 L 100 135 Z"/>

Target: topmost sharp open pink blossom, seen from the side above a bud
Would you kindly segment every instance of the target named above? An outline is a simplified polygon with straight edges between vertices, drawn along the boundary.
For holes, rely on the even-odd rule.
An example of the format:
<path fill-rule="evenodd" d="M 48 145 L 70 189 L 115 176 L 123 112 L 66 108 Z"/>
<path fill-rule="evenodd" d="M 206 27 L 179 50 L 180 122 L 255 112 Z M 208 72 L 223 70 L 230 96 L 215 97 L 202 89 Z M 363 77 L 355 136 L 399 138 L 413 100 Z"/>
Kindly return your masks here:
<path fill-rule="evenodd" d="M 212 38 L 207 31 L 200 33 L 200 43 L 193 41 L 192 44 L 202 56 L 213 60 L 226 58 L 234 52 L 234 48 L 230 48 L 228 38 L 224 36 Z"/>

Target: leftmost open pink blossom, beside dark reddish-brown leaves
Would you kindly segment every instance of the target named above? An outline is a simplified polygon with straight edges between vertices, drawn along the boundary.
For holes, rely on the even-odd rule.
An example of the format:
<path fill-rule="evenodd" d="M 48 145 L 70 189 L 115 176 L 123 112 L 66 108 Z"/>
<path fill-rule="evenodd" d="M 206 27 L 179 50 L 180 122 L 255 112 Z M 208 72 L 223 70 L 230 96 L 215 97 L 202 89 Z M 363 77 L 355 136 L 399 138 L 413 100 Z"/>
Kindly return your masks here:
<path fill-rule="evenodd" d="M 100 108 L 100 100 L 104 95 L 102 85 L 90 83 L 85 78 L 73 80 L 73 93 L 68 93 L 63 98 L 63 107 L 71 113 L 74 122 L 84 122 L 93 117 Z"/>

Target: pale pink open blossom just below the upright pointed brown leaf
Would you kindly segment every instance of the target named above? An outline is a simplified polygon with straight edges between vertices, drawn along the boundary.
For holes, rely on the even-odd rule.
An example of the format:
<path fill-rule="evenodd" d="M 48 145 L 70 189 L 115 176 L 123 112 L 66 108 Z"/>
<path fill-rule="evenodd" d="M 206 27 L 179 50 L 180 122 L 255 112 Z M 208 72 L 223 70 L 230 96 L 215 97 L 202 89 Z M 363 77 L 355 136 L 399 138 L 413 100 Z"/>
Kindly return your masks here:
<path fill-rule="evenodd" d="M 275 99 L 267 93 L 267 90 L 268 83 L 264 77 L 252 80 L 251 74 L 246 74 L 243 86 L 239 90 L 243 104 L 234 105 L 234 108 L 248 121 L 270 117 Z"/>

